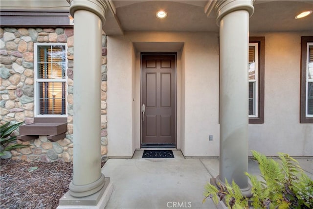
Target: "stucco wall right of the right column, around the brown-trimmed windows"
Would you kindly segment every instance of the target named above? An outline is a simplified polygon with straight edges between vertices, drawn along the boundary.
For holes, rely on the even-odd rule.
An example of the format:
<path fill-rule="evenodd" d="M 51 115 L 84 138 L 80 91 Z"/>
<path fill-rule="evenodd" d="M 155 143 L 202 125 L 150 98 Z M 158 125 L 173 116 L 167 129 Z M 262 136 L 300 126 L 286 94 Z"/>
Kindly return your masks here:
<path fill-rule="evenodd" d="M 265 36 L 265 123 L 249 125 L 249 150 L 313 156 L 313 124 L 300 123 L 301 36 L 312 33 L 262 33 Z"/>

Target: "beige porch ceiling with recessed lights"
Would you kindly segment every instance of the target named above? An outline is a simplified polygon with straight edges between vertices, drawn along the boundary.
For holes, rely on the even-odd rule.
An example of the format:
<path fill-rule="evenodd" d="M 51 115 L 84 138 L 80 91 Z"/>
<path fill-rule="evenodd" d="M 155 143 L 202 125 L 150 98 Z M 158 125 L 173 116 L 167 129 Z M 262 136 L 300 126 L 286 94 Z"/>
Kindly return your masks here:
<path fill-rule="evenodd" d="M 105 31 L 219 31 L 214 14 L 204 13 L 207 0 L 112 0 Z M 114 8 L 115 7 L 115 8 Z M 165 10 L 165 19 L 156 12 Z M 313 10 L 312 0 L 256 0 L 250 18 L 250 32 L 311 31 L 313 15 L 294 19 L 302 11 Z M 109 29 L 110 28 L 110 29 Z"/>

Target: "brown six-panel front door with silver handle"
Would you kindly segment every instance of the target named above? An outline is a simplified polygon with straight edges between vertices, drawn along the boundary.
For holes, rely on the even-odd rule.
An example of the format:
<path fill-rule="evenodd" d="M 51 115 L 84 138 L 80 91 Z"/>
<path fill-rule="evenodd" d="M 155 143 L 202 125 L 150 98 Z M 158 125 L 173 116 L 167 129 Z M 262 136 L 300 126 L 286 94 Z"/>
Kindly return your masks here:
<path fill-rule="evenodd" d="M 176 53 L 141 54 L 141 145 L 175 146 Z"/>

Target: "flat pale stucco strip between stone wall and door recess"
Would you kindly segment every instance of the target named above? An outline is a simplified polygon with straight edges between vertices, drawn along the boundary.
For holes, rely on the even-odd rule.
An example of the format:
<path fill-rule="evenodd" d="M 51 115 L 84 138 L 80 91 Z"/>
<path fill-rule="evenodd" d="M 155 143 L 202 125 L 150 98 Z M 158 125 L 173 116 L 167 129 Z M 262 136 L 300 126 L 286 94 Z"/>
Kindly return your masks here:
<path fill-rule="evenodd" d="M 133 44 L 127 37 L 108 37 L 108 156 L 133 155 Z M 111 61 L 109 62 L 109 60 Z M 110 95 L 110 96 L 109 96 Z M 112 133 L 110 133 L 112 130 Z"/>

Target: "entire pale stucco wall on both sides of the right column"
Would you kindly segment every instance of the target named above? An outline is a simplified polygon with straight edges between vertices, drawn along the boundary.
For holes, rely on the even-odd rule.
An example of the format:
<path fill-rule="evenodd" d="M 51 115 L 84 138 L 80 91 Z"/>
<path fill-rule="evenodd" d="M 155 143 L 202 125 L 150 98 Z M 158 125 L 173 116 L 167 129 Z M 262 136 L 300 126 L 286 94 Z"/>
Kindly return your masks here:
<path fill-rule="evenodd" d="M 250 34 L 266 37 L 265 123 L 249 125 L 250 150 L 313 156 L 313 124 L 299 123 L 302 35 L 310 34 Z M 172 42 L 183 43 L 177 70 L 178 148 L 187 157 L 219 156 L 215 32 L 126 32 L 124 37 L 108 37 L 108 156 L 131 157 L 140 148 L 140 52 L 136 51 L 134 59 L 132 43 L 147 44 L 149 49 L 153 42 L 165 43 L 165 47 L 168 43 L 164 51 Z"/>

